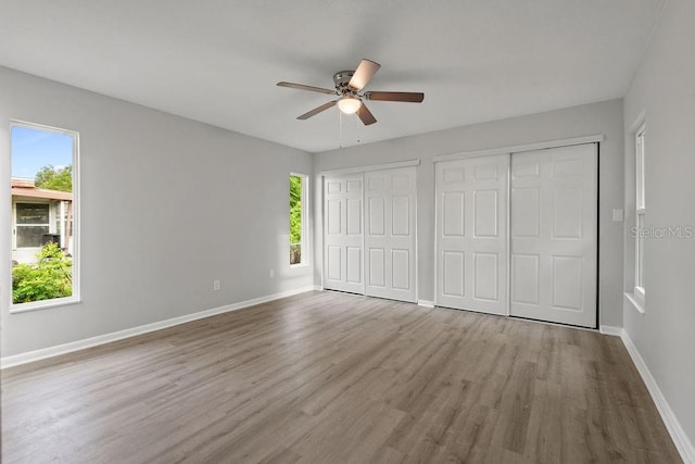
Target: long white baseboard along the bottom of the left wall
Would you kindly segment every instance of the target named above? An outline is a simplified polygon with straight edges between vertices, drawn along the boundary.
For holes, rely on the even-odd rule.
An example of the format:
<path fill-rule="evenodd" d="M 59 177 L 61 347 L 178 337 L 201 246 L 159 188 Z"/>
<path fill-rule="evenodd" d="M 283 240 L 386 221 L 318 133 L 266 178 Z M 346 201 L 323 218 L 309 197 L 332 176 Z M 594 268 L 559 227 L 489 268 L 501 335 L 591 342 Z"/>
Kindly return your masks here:
<path fill-rule="evenodd" d="M 97 347 L 100 344 L 110 343 L 112 341 L 123 340 L 124 338 L 135 337 L 138 335 L 148 334 L 150 331 L 173 327 L 179 324 L 186 324 L 191 321 L 198 321 L 205 317 L 215 316 L 217 314 L 241 310 L 243 308 L 253 306 L 255 304 L 266 303 L 273 300 L 279 300 L 280 298 L 287 298 L 293 294 L 304 293 L 306 291 L 312 291 L 314 289 L 315 289 L 314 286 L 308 286 L 308 287 L 298 288 L 295 290 L 281 291 L 279 293 L 273 293 L 265 297 L 253 298 L 251 300 L 240 301 L 238 303 L 227 304 L 225 306 L 213 308 L 211 310 L 200 311 L 193 314 L 186 314 L 184 316 L 173 317 L 170 319 L 160 321 L 152 324 L 146 324 L 139 327 L 127 328 L 125 330 L 118 330 L 111 334 L 99 335 L 97 337 L 85 338 L 83 340 L 71 341 L 70 343 L 58 344 L 55 347 L 42 348 L 40 350 L 27 351 L 25 353 L 1 358 L 0 369 L 18 366 L 21 364 L 31 363 L 34 361 L 40 361 L 48 358 L 58 356 L 61 354 L 72 353 L 73 351 L 84 350 L 86 348 Z"/>

